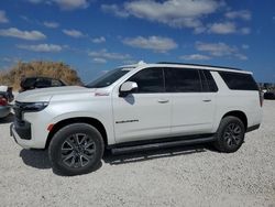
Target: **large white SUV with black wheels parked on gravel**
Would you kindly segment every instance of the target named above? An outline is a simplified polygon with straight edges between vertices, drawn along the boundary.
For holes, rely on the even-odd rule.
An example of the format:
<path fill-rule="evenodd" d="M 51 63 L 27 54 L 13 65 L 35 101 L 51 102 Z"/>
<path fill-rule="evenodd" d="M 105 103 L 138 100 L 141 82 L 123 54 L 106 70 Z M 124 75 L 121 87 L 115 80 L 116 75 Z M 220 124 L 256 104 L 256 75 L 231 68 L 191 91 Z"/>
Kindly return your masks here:
<path fill-rule="evenodd" d="M 213 142 L 235 152 L 262 120 L 252 73 L 158 63 L 128 65 L 85 87 L 25 91 L 16 97 L 11 134 L 26 149 L 48 149 L 63 174 L 90 172 L 103 151 L 128 152 Z"/>

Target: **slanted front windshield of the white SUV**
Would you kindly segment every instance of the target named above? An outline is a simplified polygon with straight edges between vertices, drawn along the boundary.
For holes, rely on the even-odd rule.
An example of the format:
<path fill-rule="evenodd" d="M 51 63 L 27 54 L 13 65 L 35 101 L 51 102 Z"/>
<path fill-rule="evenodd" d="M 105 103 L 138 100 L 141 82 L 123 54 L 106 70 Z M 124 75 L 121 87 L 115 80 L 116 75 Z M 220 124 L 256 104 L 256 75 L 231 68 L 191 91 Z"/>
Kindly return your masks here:
<path fill-rule="evenodd" d="M 103 88 L 107 86 L 110 86 L 116 80 L 118 80 L 120 77 L 125 75 L 128 72 L 130 72 L 130 68 L 118 68 L 110 70 L 106 73 L 105 75 L 100 76 L 96 80 L 91 81 L 90 84 L 86 85 L 87 88 Z"/>

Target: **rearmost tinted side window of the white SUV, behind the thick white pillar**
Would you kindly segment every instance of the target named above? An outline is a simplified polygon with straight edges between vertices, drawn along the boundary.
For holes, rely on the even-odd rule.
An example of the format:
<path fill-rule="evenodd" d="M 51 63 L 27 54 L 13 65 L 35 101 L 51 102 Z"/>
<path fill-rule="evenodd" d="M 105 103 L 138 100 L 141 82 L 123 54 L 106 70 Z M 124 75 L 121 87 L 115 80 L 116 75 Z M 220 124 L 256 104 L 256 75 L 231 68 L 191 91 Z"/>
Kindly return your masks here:
<path fill-rule="evenodd" d="M 258 90 L 257 85 L 250 74 L 219 72 L 228 87 L 233 90 Z"/>

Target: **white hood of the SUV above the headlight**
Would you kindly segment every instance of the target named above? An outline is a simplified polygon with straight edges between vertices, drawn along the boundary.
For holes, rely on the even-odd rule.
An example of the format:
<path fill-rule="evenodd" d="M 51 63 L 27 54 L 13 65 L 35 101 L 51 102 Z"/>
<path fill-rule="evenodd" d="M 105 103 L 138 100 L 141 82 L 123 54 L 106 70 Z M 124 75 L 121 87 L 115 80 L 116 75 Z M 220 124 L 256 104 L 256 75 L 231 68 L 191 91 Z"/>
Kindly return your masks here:
<path fill-rule="evenodd" d="M 19 94 L 19 96 L 16 97 L 16 101 L 20 102 L 50 101 L 51 98 L 56 95 L 80 95 L 86 92 L 92 92 L 95 89 L 85 88 L 80 86 L 41 88 Z"/>

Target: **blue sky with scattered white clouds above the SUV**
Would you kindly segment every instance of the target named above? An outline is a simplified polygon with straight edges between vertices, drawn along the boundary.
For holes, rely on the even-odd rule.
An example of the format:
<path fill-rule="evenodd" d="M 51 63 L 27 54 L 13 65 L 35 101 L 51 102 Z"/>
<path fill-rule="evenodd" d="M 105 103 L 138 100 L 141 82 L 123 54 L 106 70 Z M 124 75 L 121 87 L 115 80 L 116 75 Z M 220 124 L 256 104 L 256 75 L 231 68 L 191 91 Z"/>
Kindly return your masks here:
<path fill-rule="evenodd" d="M 85 83 L 138 61 L 223 65 L 275 83 L 275 1 L 3 0 L 0 69 L 63 61 Z"/>

